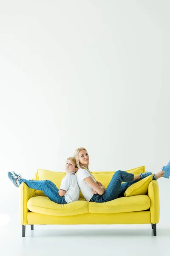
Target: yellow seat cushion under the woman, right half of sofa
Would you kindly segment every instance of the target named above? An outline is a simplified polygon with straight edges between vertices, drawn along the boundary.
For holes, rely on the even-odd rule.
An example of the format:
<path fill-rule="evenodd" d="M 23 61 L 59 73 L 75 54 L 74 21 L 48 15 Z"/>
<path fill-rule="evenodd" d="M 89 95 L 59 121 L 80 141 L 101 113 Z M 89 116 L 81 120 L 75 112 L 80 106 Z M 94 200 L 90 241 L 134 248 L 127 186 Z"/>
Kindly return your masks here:
<path fill-rule="evenodd" d="M 138 212 L 150 208 L 150 198 L 147 195 L 134 195 L 106 203 L 89 202 L 88 208 L 91 213 Z"/>

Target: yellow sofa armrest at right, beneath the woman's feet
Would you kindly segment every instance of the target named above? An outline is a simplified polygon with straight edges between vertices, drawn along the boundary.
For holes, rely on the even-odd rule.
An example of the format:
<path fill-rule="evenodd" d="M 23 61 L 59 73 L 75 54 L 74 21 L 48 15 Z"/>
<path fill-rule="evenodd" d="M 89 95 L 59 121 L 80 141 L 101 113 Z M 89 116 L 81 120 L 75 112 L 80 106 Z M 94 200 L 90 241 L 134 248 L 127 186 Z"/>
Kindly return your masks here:
<path fill-rule="evenodd" d="M 159 222 L 160 203 L 159 203 L 159 185 L 157 180 L 152 180 L 148 186 L 148 196 L 150 198 L 150 219 L 151 223 Z"/>

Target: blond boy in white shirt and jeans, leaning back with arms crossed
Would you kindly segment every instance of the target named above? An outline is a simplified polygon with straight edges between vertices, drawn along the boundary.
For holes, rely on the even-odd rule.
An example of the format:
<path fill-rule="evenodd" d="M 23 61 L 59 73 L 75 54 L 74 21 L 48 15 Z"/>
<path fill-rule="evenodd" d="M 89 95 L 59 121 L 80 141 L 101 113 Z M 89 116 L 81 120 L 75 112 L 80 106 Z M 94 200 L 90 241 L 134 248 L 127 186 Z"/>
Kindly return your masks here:
<path fill-rule="evenodd" d="M 60 189 L 51 180 L 26 180 L 15 172 L 8 172 L 8 177 L 16 187 L 24 182 L 31 189 L 42 190 L 51 201 L 68 204 L 79 200 L 79 186 L 75 175 L 77 170 L 76 159 L 68 157 L 65 164 L 66 176 L 62 179 Z"/>

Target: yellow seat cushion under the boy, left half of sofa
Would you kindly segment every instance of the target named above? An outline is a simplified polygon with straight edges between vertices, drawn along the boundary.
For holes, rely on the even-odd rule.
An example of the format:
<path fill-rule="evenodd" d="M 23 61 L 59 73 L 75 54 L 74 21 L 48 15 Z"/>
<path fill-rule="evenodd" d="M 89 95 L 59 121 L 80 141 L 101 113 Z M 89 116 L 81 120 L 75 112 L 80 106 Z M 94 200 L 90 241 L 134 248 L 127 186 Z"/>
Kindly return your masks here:
<path fill-rule="evenodd" d="M 27 203 L 27 208 L 31 212 L 55 216 L 78 215 L 89 212 L 88 202 L 85 200 L 68 204 L 57 204 L 46 196 L 30 198 Z"/>

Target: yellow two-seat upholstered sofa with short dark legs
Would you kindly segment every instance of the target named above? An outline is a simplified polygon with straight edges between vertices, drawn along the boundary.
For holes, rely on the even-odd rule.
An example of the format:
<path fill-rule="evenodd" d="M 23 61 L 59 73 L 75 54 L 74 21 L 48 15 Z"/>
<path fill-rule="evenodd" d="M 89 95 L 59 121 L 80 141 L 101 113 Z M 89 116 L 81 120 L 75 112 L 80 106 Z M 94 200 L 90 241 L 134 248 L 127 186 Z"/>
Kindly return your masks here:
<path fill-rule="evenodd" d="M 145 166 L 127 170 L 135 175 L 144 173 Z M 108 186 L 115 172 L 92 172 L 96 180 Z M 59 188 L 64 172 L 38 169 L 34 180 L 51 180 Z M 22 236 L 26 225 L 35 224 L 152 224 L 156 236 L 159 222 L 159 186 L 152 180 L 147 195 L 117 198 L 106 203 L 87 202 L 80 192 L 80 200 L 69 204 L 57 204 L 47 198 L 42 191 L 30 189 L 25 183 L 20 185 L 20 224 Z"/>

